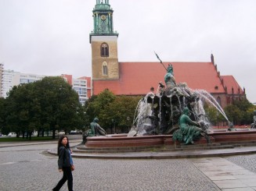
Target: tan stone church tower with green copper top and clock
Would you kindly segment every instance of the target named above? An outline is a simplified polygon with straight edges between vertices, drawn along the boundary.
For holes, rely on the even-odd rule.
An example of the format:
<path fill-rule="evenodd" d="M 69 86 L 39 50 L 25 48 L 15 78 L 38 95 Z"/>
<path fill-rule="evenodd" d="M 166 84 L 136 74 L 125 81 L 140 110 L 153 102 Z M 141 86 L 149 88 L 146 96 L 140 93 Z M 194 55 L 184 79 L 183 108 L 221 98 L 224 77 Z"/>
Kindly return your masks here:
<path fill-rule="evenodd" d="M 93 12 L 94 30 L 90 34 L 92 45 L 92 94 L 96 80 L 118 80 L 118 34 L 113 30 L 113 9 L 109 0 L 96 0 Z"/>

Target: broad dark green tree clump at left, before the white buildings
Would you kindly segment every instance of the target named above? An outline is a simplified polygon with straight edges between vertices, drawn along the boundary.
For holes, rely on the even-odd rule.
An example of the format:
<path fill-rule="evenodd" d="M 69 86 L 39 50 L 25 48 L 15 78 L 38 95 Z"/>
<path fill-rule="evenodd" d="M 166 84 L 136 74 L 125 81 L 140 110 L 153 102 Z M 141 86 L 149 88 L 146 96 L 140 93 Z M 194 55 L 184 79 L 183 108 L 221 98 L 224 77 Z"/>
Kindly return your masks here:
<path fill-rule="evenodd" d="M 84 111 L 78 94 L 61 77 L 45 77 L 34 83 L 13 87 L 6 98 L 9 130 L 31 137 L 34 129 L 41 132 L 81 128 Z"/>

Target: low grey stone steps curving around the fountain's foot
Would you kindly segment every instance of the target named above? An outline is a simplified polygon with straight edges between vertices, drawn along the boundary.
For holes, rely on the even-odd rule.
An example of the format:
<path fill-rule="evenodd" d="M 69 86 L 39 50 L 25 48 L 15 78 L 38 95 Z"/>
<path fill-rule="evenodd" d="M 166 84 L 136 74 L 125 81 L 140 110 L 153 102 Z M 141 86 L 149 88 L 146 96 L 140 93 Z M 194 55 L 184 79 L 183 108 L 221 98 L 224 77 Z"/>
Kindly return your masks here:
<path fill-rule="evenodd" d="M 237 154 L 256 154 L 256 141 L 209 143 L 194 145 L 165 145 L 149 147 L 86 147 L 78 144 L 72 148 L 72 157 L 99 159 L 165 159 L 188 157 L 216 157 Z M 48 150 L 57 155 L 57 150 Z"/>

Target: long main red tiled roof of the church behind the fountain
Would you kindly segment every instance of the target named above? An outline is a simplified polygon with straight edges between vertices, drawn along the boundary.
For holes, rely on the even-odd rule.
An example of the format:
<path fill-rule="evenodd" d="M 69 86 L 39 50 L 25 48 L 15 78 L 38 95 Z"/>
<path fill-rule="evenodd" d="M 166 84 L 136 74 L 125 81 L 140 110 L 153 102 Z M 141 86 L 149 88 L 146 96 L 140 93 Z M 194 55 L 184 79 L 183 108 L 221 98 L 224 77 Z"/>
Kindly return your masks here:
<path fill-rule="evenodd" d="M 169 62 L 164 62 L 168 67 Z M 207 90 L 211 94 L 224 94 L 219 73 L 212 62 L 171 62 L 176 83 L 187 83 L 196 90 Z M 160 62 L 119 62 L 119 80 L 96 80 L 94 94 L 109 89 L 117 95 L 144 95 L 150 87 L 157 90 L 158 83 L 164 85 L 166 70 Z"/>

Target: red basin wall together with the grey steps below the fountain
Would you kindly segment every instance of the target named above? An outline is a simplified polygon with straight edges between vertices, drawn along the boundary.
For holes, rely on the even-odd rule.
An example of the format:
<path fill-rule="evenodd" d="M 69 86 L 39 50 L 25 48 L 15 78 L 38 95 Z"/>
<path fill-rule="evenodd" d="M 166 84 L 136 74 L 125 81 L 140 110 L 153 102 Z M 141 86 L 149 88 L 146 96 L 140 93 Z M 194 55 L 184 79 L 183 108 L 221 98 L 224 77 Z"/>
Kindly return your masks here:
<path fill-rule="evenodd" d="M 115 134 L 89 137 L 86 144 L 73 147 L 72 157 L 100 159 L 167 159 L 189 157 L 219 157 L 256 154 L 256 130 L 236 129 L 226 132 L 218 129 L 208 134 L 211 143 L 203 137 L 194 145 L 173 142 L 171 135 L 135 136 Z M 48 150 L 57 155 L 57 149 Z"/>

